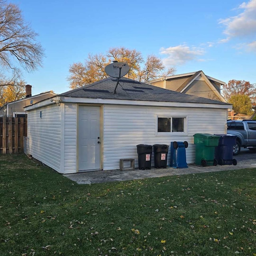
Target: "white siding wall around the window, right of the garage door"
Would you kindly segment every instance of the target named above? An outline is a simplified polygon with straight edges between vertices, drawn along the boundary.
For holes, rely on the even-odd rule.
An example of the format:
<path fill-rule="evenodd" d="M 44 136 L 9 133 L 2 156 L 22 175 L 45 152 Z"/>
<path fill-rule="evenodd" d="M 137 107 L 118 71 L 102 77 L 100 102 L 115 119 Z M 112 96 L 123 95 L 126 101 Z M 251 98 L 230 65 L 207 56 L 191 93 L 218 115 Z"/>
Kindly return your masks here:
<path fill-rule="evenodd" d="M 138 167 L 138 144 L 169 145 L 168 162 L 170 164 L 170 142 L 188 141 L 186 159 L 194 163 L 195 133 L 225 133 L 225 109 L 213 108 L 164 108 L 148 106 L 104 106 L 104 170 L 119 169 L 120 158 L 135 158 Z M 187 134 L 177 136 L 157 135 L 156 116 L 186 116 Z M 153 156 L 153 155 L 152 155 Z M 152 158 L 152 166 L 154 159 Z"/>

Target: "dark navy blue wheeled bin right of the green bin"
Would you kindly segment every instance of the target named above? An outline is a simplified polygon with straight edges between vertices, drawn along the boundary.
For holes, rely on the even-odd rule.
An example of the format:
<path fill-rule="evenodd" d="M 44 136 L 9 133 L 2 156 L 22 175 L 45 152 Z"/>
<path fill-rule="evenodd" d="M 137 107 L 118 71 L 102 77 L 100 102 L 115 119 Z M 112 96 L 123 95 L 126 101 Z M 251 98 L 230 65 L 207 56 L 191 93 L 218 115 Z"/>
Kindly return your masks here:
<path fill-rule="evenodd" d="M 236 144 L 236 136 L 232 134 L 214 134 L 220 136 L 219 144 L 215 148 L 215 158 L 220 165 L 236 165 L 233 159 L 233 147 Z"/>

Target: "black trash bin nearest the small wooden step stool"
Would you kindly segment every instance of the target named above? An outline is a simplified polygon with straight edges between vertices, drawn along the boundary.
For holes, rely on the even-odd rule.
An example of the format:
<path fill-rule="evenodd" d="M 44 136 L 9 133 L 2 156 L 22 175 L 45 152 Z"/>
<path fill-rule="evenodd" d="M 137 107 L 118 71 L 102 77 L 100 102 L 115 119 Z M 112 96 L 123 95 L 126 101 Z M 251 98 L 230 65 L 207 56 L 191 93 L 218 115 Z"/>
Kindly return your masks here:
<path fill-rule="evenodd" d="M 152 145 L 137 145 L 138 164 L 140 170 L 151 169 Z"/>

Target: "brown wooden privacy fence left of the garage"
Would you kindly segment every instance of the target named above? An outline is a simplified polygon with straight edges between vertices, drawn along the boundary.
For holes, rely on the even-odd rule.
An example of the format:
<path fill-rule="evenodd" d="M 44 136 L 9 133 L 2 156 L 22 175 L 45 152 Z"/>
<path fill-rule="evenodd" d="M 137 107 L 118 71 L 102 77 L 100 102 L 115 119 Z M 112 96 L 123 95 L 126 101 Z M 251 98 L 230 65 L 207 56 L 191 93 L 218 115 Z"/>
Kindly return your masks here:
<path fill-rule="evenodd" d="M 23 152 L 26 117 L 0 117 L 0 154 Z"/>

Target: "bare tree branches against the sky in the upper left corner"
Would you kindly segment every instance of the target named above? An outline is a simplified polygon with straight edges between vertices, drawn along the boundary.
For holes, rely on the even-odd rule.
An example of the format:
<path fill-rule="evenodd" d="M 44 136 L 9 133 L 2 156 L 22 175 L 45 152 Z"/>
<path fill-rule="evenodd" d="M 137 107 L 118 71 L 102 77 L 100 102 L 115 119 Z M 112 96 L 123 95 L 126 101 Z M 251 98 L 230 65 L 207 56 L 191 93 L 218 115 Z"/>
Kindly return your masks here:
<path fill-rule="evenodd" d="M 0 0 L 0 66 L 12 70 L 18 62 L 28 72 L 42 66 L 44 50 L 36 36 L 18 6 Z"/>

